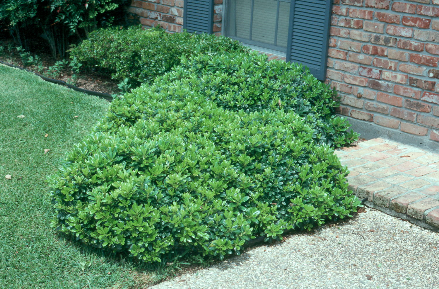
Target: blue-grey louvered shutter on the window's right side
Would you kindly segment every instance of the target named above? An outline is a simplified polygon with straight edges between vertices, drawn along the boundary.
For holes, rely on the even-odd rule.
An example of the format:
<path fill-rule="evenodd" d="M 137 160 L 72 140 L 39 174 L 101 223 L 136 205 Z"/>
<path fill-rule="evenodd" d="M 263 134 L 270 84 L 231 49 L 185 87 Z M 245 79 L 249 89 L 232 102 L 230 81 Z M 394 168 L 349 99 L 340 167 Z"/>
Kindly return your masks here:
<path fill-rule="evenodd" d="M 287 61 L 306 65 L 319 80 L 326 77 L 332 0 L 291 0 Z"/>

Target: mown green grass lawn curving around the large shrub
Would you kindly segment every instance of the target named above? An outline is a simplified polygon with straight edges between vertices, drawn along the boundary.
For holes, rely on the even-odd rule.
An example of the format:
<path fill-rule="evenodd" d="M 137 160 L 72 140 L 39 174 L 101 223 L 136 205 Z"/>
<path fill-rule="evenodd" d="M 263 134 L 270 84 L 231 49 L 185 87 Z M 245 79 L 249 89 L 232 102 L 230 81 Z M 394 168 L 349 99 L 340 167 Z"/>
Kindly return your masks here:
<path fill-rule="evenodd" d="M 142 288 L 172 271 L 95 252 L 50 227 L 46 176 L 108 105 L 0 65 L 0 288 Z M 80 262 L 91 263 L 83 274 Z"/>

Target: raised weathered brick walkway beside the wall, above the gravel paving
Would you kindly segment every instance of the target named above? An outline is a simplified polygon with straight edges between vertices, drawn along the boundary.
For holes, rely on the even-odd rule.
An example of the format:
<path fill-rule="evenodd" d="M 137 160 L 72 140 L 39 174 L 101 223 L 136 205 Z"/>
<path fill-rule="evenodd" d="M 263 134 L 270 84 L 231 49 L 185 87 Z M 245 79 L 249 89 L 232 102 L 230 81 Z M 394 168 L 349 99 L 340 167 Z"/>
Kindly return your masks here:
<path fill-rule="evenodd" d="M 374 138 L 338 149 L 350 189 L 365 204 L 439 231 L 439 155 Z"/>

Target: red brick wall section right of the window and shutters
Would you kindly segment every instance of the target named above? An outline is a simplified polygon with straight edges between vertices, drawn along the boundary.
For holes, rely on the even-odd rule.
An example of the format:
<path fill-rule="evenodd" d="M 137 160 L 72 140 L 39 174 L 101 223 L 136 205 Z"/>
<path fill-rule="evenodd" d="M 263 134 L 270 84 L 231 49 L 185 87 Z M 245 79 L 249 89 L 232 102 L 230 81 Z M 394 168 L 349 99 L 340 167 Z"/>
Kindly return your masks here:
<path fill-rule="evenodd" d="M 327 83 L 340 113 L 439 141 L 439 0 L 334 0 Z"/>

